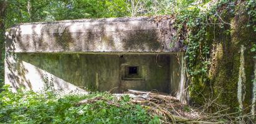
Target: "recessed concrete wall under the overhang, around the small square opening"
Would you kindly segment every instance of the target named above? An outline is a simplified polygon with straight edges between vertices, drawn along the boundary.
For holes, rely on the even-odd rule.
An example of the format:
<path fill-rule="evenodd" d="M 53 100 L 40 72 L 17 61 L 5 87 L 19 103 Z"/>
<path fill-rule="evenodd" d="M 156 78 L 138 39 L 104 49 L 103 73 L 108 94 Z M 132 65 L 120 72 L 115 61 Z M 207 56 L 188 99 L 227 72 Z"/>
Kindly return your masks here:
<path fill-rule="evenodd" d="M 139 89 L 175 93 L 181 75 L 173 76 L 171 81 L 170 74 L 179 73 L 178 61 L 175 54 L 13 53 L 6 56 L 6 84 L 14 91 L 21 86 L 40 91 L 44 79 L 52 78 L 55 89 L 65 91 Z M 143 66 L 145 78 L 121 79 L 123 64 Z"/>

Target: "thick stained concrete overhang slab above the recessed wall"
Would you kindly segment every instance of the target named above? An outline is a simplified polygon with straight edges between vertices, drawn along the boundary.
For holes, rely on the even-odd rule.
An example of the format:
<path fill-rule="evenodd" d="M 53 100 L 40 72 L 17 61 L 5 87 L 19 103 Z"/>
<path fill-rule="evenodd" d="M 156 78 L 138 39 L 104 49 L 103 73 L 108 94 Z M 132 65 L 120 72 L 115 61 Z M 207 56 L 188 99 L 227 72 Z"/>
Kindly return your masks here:
<path fill-rule="evenodd" d="M 17 25 L 6 32 L 6 50 L 18 52 L 183 51 L 173 20 L 151 17 L 83 19 Z"/>

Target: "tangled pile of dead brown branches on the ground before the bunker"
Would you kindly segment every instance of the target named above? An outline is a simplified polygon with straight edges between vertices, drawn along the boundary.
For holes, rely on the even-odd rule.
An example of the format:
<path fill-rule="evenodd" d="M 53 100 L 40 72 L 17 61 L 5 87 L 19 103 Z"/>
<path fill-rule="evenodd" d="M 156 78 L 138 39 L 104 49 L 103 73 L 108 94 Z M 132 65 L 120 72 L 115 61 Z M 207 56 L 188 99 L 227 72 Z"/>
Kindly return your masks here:
<path fill-rule="evenodd" d="M 128 92 L 125 92 L 124 94 L 113 95 L 116 96 L 117 100 L 123 99 L 124 95 L 129 95 L 131 98 L 130 104 L 139 104 L 148 110 L 150 113 L 149 115 L 158 115 L 161 117 L 162 123 L 233 123 L 232 119 L 228 119 L 229 122 L 219 122 L 219 120 L 222 118 L 240 118 L 235 117 L 235 114 L 239 112 L 227 113 L 229 108 L 225 108 L 224 110 L 216 113 L 206 114 L 204 112 L 200 112 L 200 109 L 196 110 L 192 107 L 189 107 L 188 105 L 181 104 L 181 102 L 179 102 L 176 97 L 172 97 L 169 94 L 159 92 L 128 90 Z M 82 104 L 90 104 L 99 100 L 105 101 L 109 105 L 121 107 L 117 101 L 107 100 L 102 96 L 82 100 L 75 105 L 80 106 Z M 221 112 L 226 113 L 222 114 Z M 231 115 L 234 116 L 231 117 Z M 239 122 L 239 120 L 235 120 L 235 122 Z"/>

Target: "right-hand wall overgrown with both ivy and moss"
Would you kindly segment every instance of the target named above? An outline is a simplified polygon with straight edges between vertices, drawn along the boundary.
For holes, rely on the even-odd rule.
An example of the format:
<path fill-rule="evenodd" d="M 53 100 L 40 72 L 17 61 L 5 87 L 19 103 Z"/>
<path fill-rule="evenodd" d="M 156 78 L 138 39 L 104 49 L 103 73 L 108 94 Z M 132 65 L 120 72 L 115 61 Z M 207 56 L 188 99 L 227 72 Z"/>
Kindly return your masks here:
<path fill-rule="evenodd" d="M 246 8 L 246 9 L 245 9 Z M 202 2 L 188 6 L 176 14 L 179 37 L 186 32 L 187 75 L 191 80 L 193 102 L 202 104 L 208 99 L 230 107 L 237 107 L 240 46 L 245 45 L 244 104 L 251 97 L 255 35 L 255 1 Z M 224 92 L 222 92 L 224 91 Z M 232 103 L 232 104 L 231 104 Z"/>

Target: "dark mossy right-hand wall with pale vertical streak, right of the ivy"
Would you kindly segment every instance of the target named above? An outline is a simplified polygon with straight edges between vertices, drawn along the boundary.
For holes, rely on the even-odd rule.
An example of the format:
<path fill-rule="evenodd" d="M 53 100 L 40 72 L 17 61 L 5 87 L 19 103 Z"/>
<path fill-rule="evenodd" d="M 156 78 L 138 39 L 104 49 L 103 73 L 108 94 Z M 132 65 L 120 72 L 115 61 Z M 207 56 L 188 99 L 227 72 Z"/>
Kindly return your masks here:
<path fill-rule="evenodd" d="M 211 48 L 211 64 L 207 74 L 209 79 L 204 81 L 199 75 L 191 78 L 191 102 L 204 105 L 214 101 L 216 104 L 207 108 L 209 112 L 216 112 L 219 105 L 227 105 L 237 112 L 243 108 L 252 108 L 250 105 L 255 104 L 252 102 L 255 52 L 250 50 L 256 44 L 256 32 L 252 26 L 248 27 L 250 17 L 245 1 L 236 6 L 239 7 L 235 7 L 234 12 L 227 11 L 220 15 L 226 24 L 207 26 L 206 44 Z M 220 7 L 219 11 L 224 8 Z M 193 68 L 202 67 L 201 58 L 194 63 Z M 242 113 L 247 112 L 249 109 L 244 109 Z"/>

